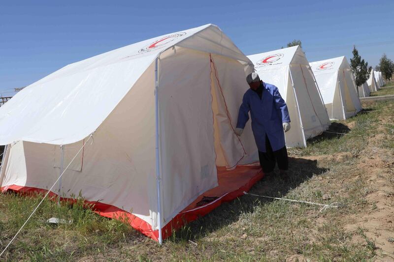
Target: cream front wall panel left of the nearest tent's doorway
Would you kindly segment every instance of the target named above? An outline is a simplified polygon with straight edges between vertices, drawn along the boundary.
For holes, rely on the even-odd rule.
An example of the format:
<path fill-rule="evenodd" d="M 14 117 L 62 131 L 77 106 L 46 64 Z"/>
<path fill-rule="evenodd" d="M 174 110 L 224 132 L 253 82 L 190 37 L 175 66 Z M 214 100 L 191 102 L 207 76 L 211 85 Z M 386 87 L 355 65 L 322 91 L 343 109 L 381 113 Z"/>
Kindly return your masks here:
<path fill-rule="evenodd" d="M 164 224 L 217 186 L 209 54 L 177 48 L 159 63 Z"/>

